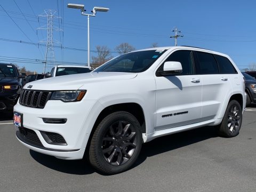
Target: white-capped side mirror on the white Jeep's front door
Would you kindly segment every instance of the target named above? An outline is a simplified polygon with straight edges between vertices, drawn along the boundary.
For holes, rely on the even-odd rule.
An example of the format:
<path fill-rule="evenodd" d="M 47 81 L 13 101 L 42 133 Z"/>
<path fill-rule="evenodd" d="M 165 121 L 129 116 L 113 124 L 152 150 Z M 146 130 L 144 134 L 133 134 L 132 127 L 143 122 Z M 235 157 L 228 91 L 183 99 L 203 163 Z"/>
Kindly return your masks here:
<path fill-rule="evenodd" d="M 159 76 L 168 76 L 173 74 L 182 73 L 182 66 L 180 62 L 177 61 L 166 61 L 164 63 L 163 71 L 158 71 Z"/>

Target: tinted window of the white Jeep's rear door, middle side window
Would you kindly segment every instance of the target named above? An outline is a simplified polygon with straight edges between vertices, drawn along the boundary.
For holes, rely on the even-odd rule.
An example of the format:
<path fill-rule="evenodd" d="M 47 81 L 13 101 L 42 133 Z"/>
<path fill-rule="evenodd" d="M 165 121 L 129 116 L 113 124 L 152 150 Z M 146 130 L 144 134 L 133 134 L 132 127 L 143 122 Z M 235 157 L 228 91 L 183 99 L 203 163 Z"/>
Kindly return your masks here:
<path fill-rule="evenodd" d="M 196 52 L 198 65 L 196 68 L 197 74 L 218 74 L 219 68 L 214 57 L 210 53 Z"/>

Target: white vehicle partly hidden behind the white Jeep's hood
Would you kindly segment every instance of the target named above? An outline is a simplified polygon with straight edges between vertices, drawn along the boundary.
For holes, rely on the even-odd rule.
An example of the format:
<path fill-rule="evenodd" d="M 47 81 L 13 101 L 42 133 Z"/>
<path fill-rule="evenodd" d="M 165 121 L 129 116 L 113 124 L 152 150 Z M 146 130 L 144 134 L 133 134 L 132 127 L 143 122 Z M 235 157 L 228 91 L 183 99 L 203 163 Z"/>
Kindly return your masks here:
<path fill-rule="evenodd" d="M 52 68 L 51 73 L 45 74 L 45 78 L 90 73 L 92 70 L 92 67 L 87 66 L 57 65 Z"/>

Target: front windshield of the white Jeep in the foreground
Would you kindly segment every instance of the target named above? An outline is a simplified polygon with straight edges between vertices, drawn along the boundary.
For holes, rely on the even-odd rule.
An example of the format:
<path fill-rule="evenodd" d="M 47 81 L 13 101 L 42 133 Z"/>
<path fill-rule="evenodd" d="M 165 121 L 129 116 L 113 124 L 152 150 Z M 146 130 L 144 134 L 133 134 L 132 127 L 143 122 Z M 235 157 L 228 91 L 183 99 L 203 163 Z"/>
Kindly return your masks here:
<path fill-rule="evenodd" d="M 94 72 L 111 71 L 140 73 L 147 70 L 166 50 L 137 51 L 119 55 Z"/>

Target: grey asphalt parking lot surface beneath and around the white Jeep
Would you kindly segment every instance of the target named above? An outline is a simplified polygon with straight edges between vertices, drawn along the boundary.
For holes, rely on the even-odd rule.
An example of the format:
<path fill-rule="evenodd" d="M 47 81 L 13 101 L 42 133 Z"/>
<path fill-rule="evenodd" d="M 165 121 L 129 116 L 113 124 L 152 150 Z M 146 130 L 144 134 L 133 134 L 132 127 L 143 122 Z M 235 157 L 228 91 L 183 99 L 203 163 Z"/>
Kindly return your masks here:
<path fill-rule="evenodd" d="M 142 146 L 132 169 L 102 175 L 84 160 L 29 150 L 15 138 L 11 118 L 0 114 L 0 191 L 255 191 L 255 117 L 256 108 L 247 108 L 235 138 L 208 126 L 155 139 Z"/>

